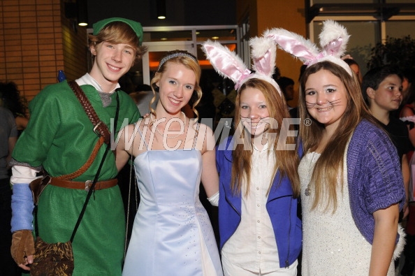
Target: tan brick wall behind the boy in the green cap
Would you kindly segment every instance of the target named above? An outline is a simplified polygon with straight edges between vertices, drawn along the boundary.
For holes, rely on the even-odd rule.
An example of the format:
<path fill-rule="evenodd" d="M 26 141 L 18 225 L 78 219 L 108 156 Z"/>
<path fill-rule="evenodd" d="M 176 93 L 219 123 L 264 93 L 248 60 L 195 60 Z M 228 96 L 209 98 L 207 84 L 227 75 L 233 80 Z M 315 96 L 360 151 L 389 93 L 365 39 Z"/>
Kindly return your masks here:
<path fill-rule="evenodd" d="M 61 0 L 0 1 L 0 82 L 13 81 L 28 101 L 57 71 L 87 72 L 87 30 L 67 19 Z"/>

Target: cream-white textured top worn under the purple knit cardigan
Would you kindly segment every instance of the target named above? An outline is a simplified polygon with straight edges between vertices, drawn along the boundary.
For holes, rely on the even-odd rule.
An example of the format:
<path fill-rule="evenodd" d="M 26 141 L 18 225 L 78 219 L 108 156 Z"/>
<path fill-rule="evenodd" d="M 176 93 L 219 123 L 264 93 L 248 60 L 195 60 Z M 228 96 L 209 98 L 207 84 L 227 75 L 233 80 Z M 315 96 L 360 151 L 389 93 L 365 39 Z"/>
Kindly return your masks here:
<path fill-rule="evenodd" d="M 310 196 L 305 196 L 305 189 L 320 154 L 305 154 L 298 166 L 303 209 L 303 276 L 367 276 L 369 273 L 372 245 L 358 231 L 351 217 L 346 153 L 347 150 L 343 164 L 343 190 L 337 193 L 337 210 L 334 214 L 333 209 L 324 212 L 324 204 L 311 210 L 313 185 L 310 185 Z M 340 185 L 340 181 L 338 184 Z M 393 275 L 395 274 L 391 262 L 388 276 Z"/>

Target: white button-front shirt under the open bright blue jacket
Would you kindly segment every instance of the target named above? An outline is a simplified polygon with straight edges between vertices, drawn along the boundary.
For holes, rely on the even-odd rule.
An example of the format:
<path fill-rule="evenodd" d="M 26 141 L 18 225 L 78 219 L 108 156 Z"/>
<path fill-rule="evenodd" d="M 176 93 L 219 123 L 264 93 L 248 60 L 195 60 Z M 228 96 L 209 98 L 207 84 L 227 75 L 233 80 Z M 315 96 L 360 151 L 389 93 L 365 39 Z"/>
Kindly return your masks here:
<path fill-rule="evenodd" d="M 275 154 L 268 144 L 252 153 L 250 189 L 244 196 L 242 183 L 242 215 L 235 233 L 225 243 L 221 254 L 231 263 L 254 273 L 270 273 L 279 269 L 277 242 L 268 212 L 267 191 L 274 179 Z M 246 180 L 245 180 L 246 181 Z"/>

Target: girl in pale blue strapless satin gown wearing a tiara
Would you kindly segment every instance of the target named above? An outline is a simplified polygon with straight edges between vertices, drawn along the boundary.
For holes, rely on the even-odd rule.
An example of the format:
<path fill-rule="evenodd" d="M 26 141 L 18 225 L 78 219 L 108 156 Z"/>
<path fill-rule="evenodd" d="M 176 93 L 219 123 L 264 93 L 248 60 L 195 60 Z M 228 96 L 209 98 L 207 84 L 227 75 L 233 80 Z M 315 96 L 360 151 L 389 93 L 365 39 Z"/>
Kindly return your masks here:
<path fill-rule="evenodd" d="M 124 128 L 117 144 L 117 167 L 136 157 L 140 206 L 123 275 L 223 275 L 207 212 L 199 200 L 203 183 L 217 205 L 219 177 L 214 136 L 181 112 L 196 94 L 201 68 L 188 52 L 170 52 L 152 79 L 159 90 L 156 110 Z M 197 115 L 197 112 L 196 112 Z"/>

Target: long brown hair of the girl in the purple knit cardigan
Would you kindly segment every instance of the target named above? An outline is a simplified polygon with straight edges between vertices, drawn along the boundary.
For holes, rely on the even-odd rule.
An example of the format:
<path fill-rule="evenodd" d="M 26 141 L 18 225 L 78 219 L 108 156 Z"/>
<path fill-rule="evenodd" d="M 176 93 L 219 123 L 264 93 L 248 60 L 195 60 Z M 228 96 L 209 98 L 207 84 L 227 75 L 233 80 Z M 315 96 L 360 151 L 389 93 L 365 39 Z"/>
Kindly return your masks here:
<path fill-rule="evenodd" d="M 376 119 L 370 115 L 369 110 L 363 101 L 361 87 L 355 75 L 351 76 L 341 66 L 330 61 L 322 61 L 307 68 L 300 80 L 299 92 L 299 114 L 301 122 L 311 120 L 310 126 L 300 124 L 300 138 L 303 143 L 304 152 L 315 150 L 321 141 L 324 125 L 317 122 L 307 111 L 305 106 L 305 82 L 310 75 L 321 70 L 326 70 L 340 78 L 347 92 L 347 108 L 340 118 L 340 123 L 333 136 L 328 140 L 326 147 L 321 152 L 320 158 L 316 161 L 312 173 L 310 185 L 313 191 L 312 209 L 320 202 L 326 202 L 324 210 L 330 207 L 335 212 L 337 208 L 337 176 L 340 176 L 341 190 L 343 187 L 343 162 L 349 139 L 361 119 L 367 119 L 377 124 Z M 340 173 L 340 175 L 339 175 Z"/>

